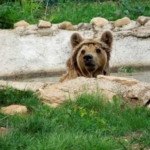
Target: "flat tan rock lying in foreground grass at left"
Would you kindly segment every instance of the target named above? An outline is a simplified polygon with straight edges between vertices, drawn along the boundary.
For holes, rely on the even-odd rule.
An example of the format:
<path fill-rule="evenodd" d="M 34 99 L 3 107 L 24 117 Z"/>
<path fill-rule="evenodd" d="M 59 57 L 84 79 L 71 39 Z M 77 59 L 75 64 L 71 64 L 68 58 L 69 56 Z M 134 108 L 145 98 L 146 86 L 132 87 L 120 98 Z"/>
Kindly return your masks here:
<path fill-rule="evenodd" d="M 24 114 L 28 110 L 27 110 L 26 106 L 22 106 L 22 105 L 10 105 L 10 106 L 7 106 L 7 107 L 2 107 L 1 111 L 4 114 L 13 115 L 15 113 L 17 113 L 17 114 Z"/>

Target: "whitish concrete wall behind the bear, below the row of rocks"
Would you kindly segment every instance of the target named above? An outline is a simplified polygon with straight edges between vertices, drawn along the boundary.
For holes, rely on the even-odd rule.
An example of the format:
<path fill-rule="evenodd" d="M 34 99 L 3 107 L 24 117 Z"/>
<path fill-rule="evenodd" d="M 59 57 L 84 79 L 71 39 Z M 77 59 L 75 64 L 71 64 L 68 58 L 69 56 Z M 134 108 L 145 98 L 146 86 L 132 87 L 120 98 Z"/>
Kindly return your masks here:
<path fill-rule="evenodd" d="M 92 30 L 40 30 L 33 25 L 0 30 L 0 77 L 65 69 L 74 32 L 93 38 L 103 31 L 95 35 Z M 113 31 L 113 35 L 111 67 L 150 66 L 150 27 Z"/>

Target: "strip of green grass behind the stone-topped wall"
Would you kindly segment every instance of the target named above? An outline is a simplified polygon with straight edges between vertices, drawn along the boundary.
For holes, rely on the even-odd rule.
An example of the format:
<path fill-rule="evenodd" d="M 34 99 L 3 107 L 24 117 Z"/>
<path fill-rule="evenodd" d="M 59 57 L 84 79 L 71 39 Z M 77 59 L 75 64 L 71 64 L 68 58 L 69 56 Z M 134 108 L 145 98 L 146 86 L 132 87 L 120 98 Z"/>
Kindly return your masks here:
<path fill-rule="evenodd" d="M 39 19 L 59 23 L 64 20 L 73 24 L 81 22 L 89 23 L 93 17 L 104 17 L 109 21 L 115 21 L 124 16 L 136 20 L 138 16 L 150 16 L 149 0 L 116 0 L 88 2 L 81 0 L 58 0 L 54 5 L 35 2 L 34 0 L 3 2 L 0 5 L 0 28 L 12 28 L 13 24 L 25 20 L 31 24 L 37 24 Z"/>

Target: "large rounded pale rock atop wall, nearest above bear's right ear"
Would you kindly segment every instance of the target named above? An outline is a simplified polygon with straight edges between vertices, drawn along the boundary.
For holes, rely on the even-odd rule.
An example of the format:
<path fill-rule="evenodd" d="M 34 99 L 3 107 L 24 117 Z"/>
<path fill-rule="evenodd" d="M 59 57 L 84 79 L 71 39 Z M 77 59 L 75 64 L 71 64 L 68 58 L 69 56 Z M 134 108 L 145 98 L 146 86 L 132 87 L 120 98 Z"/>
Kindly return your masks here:
<path fill-rule="evenodd" d="M 108 24 L 108 20 L 105 19 L 105 18 L 101 18 L 101 17 L 95 17 L 90 21 L 90 24 L 91 25 L 96 25 L 96 26 L 99 26 L 99 27 L 103 27 L 103 26 Z"/>

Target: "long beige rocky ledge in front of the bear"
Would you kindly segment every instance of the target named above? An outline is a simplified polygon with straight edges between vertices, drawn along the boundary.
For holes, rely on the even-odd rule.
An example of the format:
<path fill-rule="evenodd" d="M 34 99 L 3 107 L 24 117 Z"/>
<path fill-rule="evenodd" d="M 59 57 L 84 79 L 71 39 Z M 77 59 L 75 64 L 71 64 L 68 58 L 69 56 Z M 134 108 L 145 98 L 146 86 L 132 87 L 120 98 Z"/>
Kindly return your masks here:
<path fill-rule="evenodd" d="M 99 75 L 97 78 L 78 77 L 63 83 L 0 82 L 0 87 L 12 86 L 19 90 L 30 89 L 38 93 L 43 103 L 57 107 L 67 99 L 75 100 L 78 94 L 99 92 L 105 100 L 112 102 L 116 96 L 123 104 L 147 106 L 150 104 L 150 84 L 131 78 Z M 28 85 L 28 86 L 27 86 Z M 28 87 L 28 88 L 27 88 Z M 36 88 L 35 88 L 36 87 Z M 13 106 L 16 107 L 16 106 Z M 4 109 L 3 109 L 4 110 Z M 15 110 L 17 110 L 15 108 Z M 5 110 L 7 112 L 7 110 Z"/>

